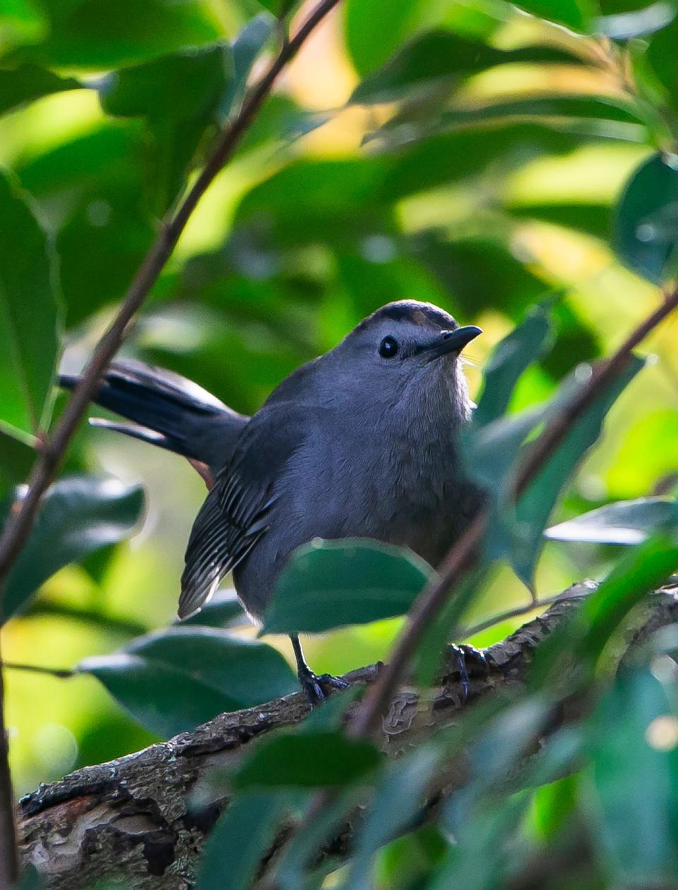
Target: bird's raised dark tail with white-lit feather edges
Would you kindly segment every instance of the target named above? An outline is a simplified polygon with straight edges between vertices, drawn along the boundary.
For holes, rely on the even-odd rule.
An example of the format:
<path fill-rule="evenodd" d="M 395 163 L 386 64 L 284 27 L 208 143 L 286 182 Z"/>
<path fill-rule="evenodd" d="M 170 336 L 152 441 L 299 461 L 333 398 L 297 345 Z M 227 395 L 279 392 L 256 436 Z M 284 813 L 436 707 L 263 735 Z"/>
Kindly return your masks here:
<path fill-rule="evenodd" d="M 79 379 L 62 374 L 59 384 L 72 390 Z M 132 423 L 94 418 L 94 425 L 198 460 L 215 473 L 248 419 L 185 377 L 133 360 L 109 366 L 95 401 Z"/>

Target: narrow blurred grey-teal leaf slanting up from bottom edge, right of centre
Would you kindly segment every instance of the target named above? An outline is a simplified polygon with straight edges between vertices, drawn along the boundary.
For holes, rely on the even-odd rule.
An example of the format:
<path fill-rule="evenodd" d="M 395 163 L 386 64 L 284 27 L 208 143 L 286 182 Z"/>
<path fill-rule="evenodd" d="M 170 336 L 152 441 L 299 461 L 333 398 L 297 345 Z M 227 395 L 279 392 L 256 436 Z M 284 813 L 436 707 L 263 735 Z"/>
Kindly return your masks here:
<path fill-rule="evenodd" d="M 354 854 L 343 882 L 344 890 L 370 890 L 372 860 L 379 847 L 416 822 L 424 793 L 440 769 L 441 751 L 424 745 L 414 754 L 386 766 L 375 795 L 354 840 Z"/>

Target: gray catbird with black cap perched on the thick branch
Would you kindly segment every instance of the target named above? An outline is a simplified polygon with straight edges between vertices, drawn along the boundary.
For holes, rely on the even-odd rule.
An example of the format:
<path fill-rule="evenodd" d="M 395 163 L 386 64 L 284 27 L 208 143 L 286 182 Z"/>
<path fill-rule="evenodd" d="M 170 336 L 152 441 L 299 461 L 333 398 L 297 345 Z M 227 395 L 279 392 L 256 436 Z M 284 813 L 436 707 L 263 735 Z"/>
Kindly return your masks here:
<path fill-rule="evenodd" d="M 480 498 L 456 445 L 472 409 L 459 353 L 480 333 L 431 303 L 389 303 L 283 380 L 254 417 L 181 376 L 112 364 L 97 401 L 133 424 L 105 425 L 214 477 L 190 533 L 179 617 L 232 571 L 241 603 L 261 619 L 289 555 L 316 537 L 376 538 L 438 564 Z M 342 685 L 313 674 L 292 642 L 311 701 L 323 684 Z"/>

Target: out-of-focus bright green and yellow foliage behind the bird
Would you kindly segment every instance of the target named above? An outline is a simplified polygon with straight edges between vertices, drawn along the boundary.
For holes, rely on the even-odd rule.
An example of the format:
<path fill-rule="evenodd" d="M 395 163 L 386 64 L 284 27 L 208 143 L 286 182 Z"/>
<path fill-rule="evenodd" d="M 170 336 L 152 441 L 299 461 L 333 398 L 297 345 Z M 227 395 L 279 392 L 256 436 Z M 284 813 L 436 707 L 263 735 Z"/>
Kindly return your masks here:
<path fill-rule="evenodd" d="M 492 346 L 530 304 L 555 294 L 558 337 L 522 382 L 519 408 L 543 400 L 578 362 L 617 346 L 657 304 L 658 288 L 623 268 L 610 247 L 620 190 L 666 139 L 663 124 L 626 111 L 641 74 L 626 77 L 617 44 L 503 0 L 399 0 L 386 18 L 382 6 L 349 0 L 303 47 L 193 214 L 125 355 L 172 368 L 251 413 L 367 313 L 413 297 L 484 329 L 467 367 L 477 392 Z M 98 78 L 232 39 L 260 11 L 245 0 L 110 8 L 21 0 L 0 16 L 3 65 L 44 64 L 99 87 L 44 95 L 0 118 L 0 164 L 33 199 L 58 251 L 64 368 L 82 367 L 175 191 L 168 146 L 181 115 L 168 124 L 167 115 L 108 114 Z M 674 26 L 668 32 L 675 36 Z M 417 77 L 407 53 L 389 66 L 423 35 L 428 43 L 413 44 Z M 472 47 L 465 57 L 464 46 Z M 0 100 L 2 88 L 0 79 Z M 562 113 L 557 100 L 573 97 L 577 108 Z M 553 105 L 539 104 L 546 100 Z M 488 111 L 513 101 L 525 104 Z M 676 320 L 644 344 L 657 360 L 610 412 L 553 522 L 671 487 L 676 344 Z M 11 398 L 0 394 L 0 417 L 14 416 Z M 28 457 L 21 450 L 0 464 L 6 489 Z M 205 495 L 198 475 L 179 457 L 88 427 L 68 469 L 140 481 L 145 519 L 128 542 L 61 570 L 4 627 L 9 662 L 71 667 L 174 618 L 183 550 Z M 549 543 L 537 592 L 600 578 L 614 555 L 611 547 Z M 469 620 L 527 597 L 499 570 Z M 517 623 L 473 642 L 501 638 Z M 313 638 L 307 655 L 317 670 L 341 673 L 383 658 L 398 627 L 400 619 Z M 291 657 L 285 638 L 270 642 Z M 19 792 L 153 740 L 93 677 L 6 676 Z"/>

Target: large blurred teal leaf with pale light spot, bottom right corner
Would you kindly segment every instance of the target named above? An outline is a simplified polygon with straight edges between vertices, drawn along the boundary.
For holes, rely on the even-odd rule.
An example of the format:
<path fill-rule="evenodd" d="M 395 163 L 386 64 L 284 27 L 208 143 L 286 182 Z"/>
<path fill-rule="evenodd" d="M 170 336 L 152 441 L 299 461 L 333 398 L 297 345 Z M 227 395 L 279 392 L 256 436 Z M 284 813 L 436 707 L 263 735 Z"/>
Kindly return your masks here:
<path fill-rule="evenodd" d="M 614 886 L 678 880 L 674 694 L 649 670 L 619 676 L 589 721 L 585 813 Z"/>

